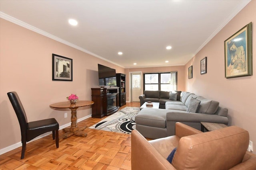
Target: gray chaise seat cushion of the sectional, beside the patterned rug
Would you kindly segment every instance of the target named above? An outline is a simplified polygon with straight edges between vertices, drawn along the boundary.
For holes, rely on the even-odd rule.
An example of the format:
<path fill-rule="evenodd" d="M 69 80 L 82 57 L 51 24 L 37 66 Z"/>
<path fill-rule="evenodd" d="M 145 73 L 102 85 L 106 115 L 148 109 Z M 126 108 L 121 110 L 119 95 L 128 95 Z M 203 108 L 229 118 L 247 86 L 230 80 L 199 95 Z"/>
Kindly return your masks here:
<path fill-rule="evenodd" d="M 135 117 L 135 123 L 140 125 L 166 128 L 166 109 L 144 108 Z"/>

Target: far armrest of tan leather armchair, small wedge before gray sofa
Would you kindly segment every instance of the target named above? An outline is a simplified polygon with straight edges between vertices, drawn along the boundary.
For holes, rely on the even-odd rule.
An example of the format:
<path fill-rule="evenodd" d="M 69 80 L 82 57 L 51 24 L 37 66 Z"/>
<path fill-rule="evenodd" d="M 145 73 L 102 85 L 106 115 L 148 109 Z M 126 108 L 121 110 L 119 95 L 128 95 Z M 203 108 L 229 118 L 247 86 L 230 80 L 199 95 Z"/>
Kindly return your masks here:
<path fill-rule="evenodd" d="M 189 136 L 189 135 L 195 135 L 198 133 L 202 133 L 202 132 L 197 129 L 194 129 L 193 127 L 185 125 L 183 123 L 180 123 L 180 122 L 175 123 L 175 135 L 178 136 L 179 138 L 182 138 L 184 136 Z"/>

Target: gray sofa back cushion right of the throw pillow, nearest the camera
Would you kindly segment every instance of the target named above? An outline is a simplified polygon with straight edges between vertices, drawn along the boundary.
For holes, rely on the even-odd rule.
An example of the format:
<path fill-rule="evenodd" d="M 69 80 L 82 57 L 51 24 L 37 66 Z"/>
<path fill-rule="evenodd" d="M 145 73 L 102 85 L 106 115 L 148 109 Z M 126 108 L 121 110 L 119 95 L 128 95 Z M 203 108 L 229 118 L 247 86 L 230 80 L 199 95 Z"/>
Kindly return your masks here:
<path fill-rule="evenodd" d="M 198 107 L 198 113 L 214 114 L 218 110 L 219 102 L 208 100 L 201 96 L 198 96 L 196 99 L 201 101 Z"/>

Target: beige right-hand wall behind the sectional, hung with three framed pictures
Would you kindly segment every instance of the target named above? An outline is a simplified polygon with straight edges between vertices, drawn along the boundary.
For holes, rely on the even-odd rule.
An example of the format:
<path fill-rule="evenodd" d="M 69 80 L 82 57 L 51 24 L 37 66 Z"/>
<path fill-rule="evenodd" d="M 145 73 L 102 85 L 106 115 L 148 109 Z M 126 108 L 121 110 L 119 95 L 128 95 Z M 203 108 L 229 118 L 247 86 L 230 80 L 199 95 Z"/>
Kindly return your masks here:
<path fill-rule="evenodd" d="M 228 108 L 230 125 L 249 131 L 250 141 L 256 152 L 256 1 L 251 1 L 237 14 L 193 59 L 185 66 L 193 65 L 193 78 L 186 78 L 186 90 L 220 102 Z M 253 76 L 225 78 L 224 41 L 246 24 L 252 22 Z M 207 57 L 207 73 L 200 74 L 200 60 Z"/>

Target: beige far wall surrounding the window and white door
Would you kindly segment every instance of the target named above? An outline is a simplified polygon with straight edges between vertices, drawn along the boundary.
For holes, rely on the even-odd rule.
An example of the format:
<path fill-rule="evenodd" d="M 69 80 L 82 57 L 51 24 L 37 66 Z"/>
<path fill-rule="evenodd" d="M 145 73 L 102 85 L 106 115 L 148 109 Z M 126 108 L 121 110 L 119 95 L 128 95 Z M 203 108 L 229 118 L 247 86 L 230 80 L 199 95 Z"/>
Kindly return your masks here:
<path fill-rule="evenodd" d="M 168 72 L 168 71 L 178 71 L 178 78 L 177 78 L 177 84 L 178 84 L 178 90 L 184 91 L 185 88 L 185 79 L 184 79 L 184 66 L 163 66 L 163 67 L 146 67 L 146 68 L 125 68 L 125 74 L 126 74 L 126 86 L 130 84 L 130 72 Z M 143 79 L 143 77 L 142 77 Z M 142 80 L 143 81 L 143 80 Z M 142 87 L 143 88 L 143 87 Z M 143 90 L 142 90 L 143 92 Z M 130 101 L 130 88 L 126 88 L 126 100 Z"/>

